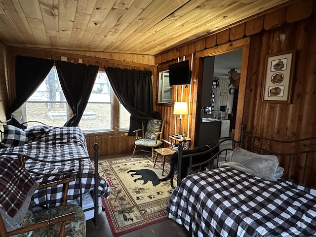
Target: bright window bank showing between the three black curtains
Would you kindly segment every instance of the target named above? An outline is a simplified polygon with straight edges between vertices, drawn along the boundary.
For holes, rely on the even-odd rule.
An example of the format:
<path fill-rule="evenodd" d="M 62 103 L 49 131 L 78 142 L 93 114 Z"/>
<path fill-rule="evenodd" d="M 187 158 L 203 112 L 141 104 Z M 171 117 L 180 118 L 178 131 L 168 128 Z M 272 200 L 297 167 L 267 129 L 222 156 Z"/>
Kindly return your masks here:
<path fill-rule="evenodd" d="M 23 105 L 24 121 L 40 121 L 51 126 L 63 126 L 69 110 L 61 89 L 57 70 L 53 67 L 34 94 Z M 129 129 L 130 114 L 113 93 L 105 71 L 99 71 L 88 103 L 79 122 L 84 132 Z M 35 124 L 30 124 L 32 126 Z"/>

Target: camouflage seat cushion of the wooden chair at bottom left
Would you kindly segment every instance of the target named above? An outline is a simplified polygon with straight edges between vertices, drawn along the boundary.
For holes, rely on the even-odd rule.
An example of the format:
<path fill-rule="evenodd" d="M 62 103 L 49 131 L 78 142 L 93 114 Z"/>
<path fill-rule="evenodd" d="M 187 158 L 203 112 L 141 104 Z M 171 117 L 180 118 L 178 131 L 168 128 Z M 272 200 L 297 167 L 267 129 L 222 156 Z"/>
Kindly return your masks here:
<path fill-rule="evenodd" d="M 71 237 L 85 237 L 86 225 L 84 212 L 78 205 L 67 204 L 65 206 L 53 207 L 50 209 L 43 209 L 34 212 L 35 222 L 48 220 L 52 217 L 58 217 L 75 212 L 75 221 L 66 221 L 65 236 Z M 59 235 L 61 223 L 49 227 L 41 228 L 33 231 L 32 237 L 55 237 Z"/>

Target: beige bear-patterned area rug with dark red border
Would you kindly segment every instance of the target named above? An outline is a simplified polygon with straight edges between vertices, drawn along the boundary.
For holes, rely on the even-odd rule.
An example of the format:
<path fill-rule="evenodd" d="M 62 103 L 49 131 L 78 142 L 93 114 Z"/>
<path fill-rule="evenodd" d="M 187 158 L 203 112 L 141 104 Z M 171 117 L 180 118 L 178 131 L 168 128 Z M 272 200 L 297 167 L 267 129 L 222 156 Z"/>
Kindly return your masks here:
<path fill-rule="evenodd" d="M 153 166 L 151 156 L 145 155 L 99 159 L 99 174 L 111 187 L 110 197 L 102 201 L 114 237 L 167 219 L 165 210 L 173 189 L 170 180 L 159 179 L 170 166 L 166 162 L 163 176 L 162 160 Z"/>

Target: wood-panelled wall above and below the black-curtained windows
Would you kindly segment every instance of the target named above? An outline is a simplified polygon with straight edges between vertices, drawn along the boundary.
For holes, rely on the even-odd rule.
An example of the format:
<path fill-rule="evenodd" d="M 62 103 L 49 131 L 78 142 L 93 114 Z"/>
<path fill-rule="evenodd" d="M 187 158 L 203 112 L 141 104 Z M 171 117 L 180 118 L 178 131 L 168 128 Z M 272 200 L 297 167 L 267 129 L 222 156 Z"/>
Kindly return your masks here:
<path fill-rule="evenodd" d="M 114 67 L 114 68 L 122 68 L 122 69 L 130 69 L 130 70 L 143 70 L 143 71 L 152 71 L 153 79 L 157 77 L 157 67 L 154 65 L 150 65 L 153 60 L 149 60 L 150 64 L 143 64 L 138 62 L 129 62 L 108 58 L 96 57 L 96 55 L 100 55 L 95 52 L 90 52 L 87 54 L 94 56 L 86 56 L 83 54 L 73 54 L 64 51 L 52 51 L 52 50 L 44 50 L 44 49 L 32 49 L 32 48 L 19 48 L 19 47 L 7 47 L 7 62 L 8 62 L 8 72 L 10 78 L 10 91 L 15 91 L 15 56 L 23 55 L 23 56 L 32 56 L 32 57 L 40 57 L 40 58 L 50 58 L 54 60 L 60 60 L 61 57 L 67 57 L 68 62 L 78 63 L 79 59 L 82 60 L 84 64 L 98 65 L 99 68 L 104 67 Z M 115 54 L 112 54 L 115 55 Z M 102 54 L 101 54 L 102 56 Z M 105 56 L 105 54 L 103 54 Z M 138 57 L 143 60 L 142 57 Z M 147 57 L 144 57 L 147 58 Z M 135 58 L 137 59 L 137 57 Z M 152 58 L 153 59 L 153 58 Z M 2 71 L 2 70 L 1 70 Z M 4 71 L 4 70 L 3 70 Z M 156 83 L 153 83 L 153 89 L 156 91 Z M 6 88 L 2 87 L 1 88 Z M 15 94 L 12 93 L 12 98 L 15 98 Z M 156 95 L 154 96 L 154 101 L 156 101 Z M 155 106 L 155 105 L 154 105 Z M 155 108 L 154 108 L 155 109 Z M 112 155 L 112 154 L 123 154 L 129 153 L 133 151 L 135 136 L 127 136 L 127 132 L 102 132 L 102 133 L 89 133 L 85 134 L 85 138 L 87 140 L 88 152 L 90 155 L 93 155 L 93 144 L 99 144 L 99 155 Z"/>

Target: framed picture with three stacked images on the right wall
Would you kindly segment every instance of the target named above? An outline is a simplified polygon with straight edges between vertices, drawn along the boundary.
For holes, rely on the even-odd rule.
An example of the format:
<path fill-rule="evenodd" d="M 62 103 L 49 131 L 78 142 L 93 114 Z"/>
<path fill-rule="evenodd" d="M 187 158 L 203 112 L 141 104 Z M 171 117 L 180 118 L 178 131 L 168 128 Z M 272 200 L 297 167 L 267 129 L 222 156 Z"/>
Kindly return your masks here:
<path fill-rule="evenodd" d="M 291 103 L 295 51 L 266 56 L 262 102 Z"/>

